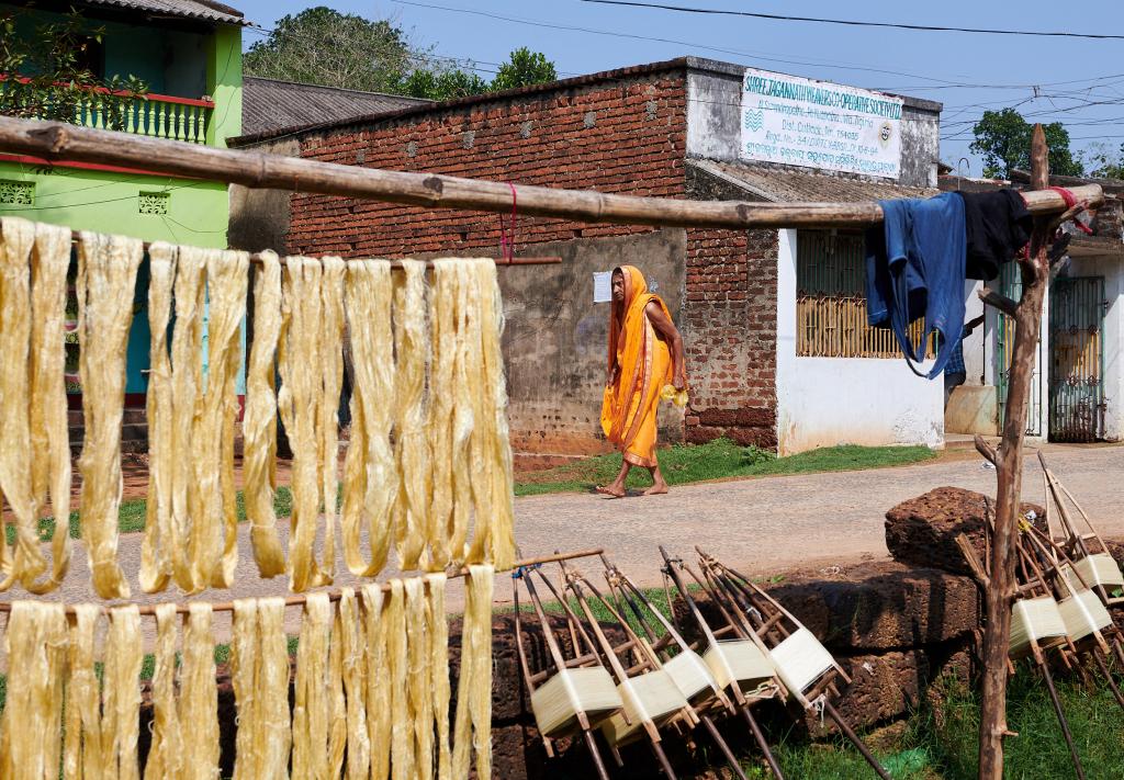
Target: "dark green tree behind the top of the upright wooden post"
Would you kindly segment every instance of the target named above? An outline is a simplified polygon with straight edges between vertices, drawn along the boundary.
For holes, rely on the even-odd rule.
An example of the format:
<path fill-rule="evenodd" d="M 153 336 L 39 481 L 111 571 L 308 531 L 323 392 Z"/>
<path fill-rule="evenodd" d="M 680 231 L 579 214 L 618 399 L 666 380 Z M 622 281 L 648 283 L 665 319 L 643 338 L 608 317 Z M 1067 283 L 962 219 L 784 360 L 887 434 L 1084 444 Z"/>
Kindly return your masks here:
<path fill-rule="evenodd" d="M 1050 147 L 1050 172 L 1059 175 L 1085 174 L 1081 161 L 1069 147 L 1069 130 L 1060 121 L 1043 125 Z M 1009 179 L 1015 169 L 1031 169 L 1031 134 L 1034 126 L 1013 108 L 985 111 L 972 133 L 976 140 L 970 148 L 984 157 L 984 175 Z"/>

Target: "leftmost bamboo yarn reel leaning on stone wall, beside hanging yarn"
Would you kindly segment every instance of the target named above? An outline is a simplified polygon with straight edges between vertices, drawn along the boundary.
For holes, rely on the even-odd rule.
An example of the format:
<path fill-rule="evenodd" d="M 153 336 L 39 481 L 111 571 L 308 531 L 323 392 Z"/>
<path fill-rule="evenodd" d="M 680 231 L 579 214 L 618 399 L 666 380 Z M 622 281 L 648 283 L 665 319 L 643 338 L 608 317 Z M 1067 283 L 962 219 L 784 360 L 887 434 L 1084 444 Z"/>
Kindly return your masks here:
<path fill-rule="evenodd" d="M 569 608 L 564 599 L 559 599 L 564 607 L 566 629 L 571 638 L 572 656 L 566 657 L 558 637 L 546 617 L 538 590 L 535 588 L 533 574 L 538 574 L 544 584 L 558 592 L 541 565 L 518 566 L 511 573 L 515 595 L 515 637 L 519 656 L 519 669 L 524 684 L 531 692 L 531 708 L 535 715 L 538 733 L 549 756 L 554 756 L 554 741 L 571 734 L 581 733 L 586 747 L 589 750 L 593 767 L 601 780 L 608 780 L 608 771 L 601 760 L 593 729 L 602 720 L 624 707 L 613 678 L 601 665 L 597 646 L 582 627 L 577 615 Z M 520 584 L 527 591 L 532 608 L 537 618 L 538 629 L 547 650 L 547 663 L 542 670 L 531 669 L 532 638 L 524 628 L 523 608 L 519 600 Z"/>

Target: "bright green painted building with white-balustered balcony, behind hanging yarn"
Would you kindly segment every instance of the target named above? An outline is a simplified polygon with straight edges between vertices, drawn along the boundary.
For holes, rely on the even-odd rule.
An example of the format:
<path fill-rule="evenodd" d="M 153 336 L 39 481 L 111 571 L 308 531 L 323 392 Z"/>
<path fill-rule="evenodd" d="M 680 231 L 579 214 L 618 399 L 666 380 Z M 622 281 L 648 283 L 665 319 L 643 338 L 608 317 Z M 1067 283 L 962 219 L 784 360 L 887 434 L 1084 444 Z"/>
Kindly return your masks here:
<path fill-rule="evenodd" d="M 13 4 L 3 3 L 10 10 Z M 242 130 L 239 11 L 210 0 L 85 0 L 16 3 L 19 24 L 42 22 L 72 6 L 103 28 L 89 67 L 106 78 L 134 75 L 148 93 L 126 111 L 127 133 L 225 146 Z M 80 124 L 103 127 L 91 93 Z M 0 216 L 144 241 L 227 246 L 229 197 L 221 182 L 143 170 L 0 154 Z M 142 265 L 129 339 L 127 406 L 143 406 L 148 369 L 147 264 Z M 74 390 L 78 390 L 76 384 Z"/>

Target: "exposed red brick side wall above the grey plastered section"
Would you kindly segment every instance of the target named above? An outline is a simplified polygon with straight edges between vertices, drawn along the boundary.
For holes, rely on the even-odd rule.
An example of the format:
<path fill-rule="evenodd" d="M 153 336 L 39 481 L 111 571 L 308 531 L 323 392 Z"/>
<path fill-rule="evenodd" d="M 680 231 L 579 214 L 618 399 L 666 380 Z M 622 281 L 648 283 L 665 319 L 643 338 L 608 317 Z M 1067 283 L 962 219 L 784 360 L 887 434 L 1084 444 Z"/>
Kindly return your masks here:
<path fill-rule="evenodd" d="M 634 196 L 682 197 L 685 72 L 531 92 L 327 130 L 301 156 L 348 165 Z M 520 245 L 649 232 L 558 219 L 518 221 Z M 499 244 L 499 217 L 296 194 L 291 253 L 404 256 Z"/>

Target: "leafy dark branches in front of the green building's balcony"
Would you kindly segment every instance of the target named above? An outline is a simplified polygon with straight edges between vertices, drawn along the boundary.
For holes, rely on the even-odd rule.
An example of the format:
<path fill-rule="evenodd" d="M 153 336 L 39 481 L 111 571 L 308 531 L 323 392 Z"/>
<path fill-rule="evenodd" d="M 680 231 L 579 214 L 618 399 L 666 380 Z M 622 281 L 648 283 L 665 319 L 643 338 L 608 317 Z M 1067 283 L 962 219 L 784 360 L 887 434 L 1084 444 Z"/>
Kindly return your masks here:
<path fill-rule="evenodd" d="M 103 35 L 76 10 L 40 24 L 22 9 L 0 12 L 0 114 L 81 125 L 93 112 L 105 127 L 121 129 L 128 107 L 148 85 L 94 72 L 92 55 Z"/>

